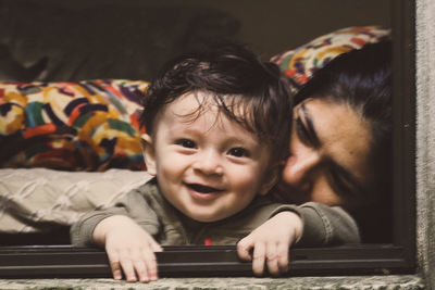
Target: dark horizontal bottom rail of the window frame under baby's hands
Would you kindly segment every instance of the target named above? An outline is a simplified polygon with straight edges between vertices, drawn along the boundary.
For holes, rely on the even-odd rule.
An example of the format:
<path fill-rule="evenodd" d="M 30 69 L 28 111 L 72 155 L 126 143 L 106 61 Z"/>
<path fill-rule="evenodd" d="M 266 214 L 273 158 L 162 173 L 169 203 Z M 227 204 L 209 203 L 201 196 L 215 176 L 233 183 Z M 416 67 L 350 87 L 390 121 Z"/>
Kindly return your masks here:
<path fill-rule="evenodd" d="M 235 247 L 166 247 L 157 257 L 160 277 L 253 275 L 251 263 L 240 261 Z M 403 257 L 402 248 L 385 244 L 294 249 L 287 276 L 412 272 Z M 0 249 L 0 278 L 74 277 L 111 277 L 105 252 L 70 245 Z"/>

